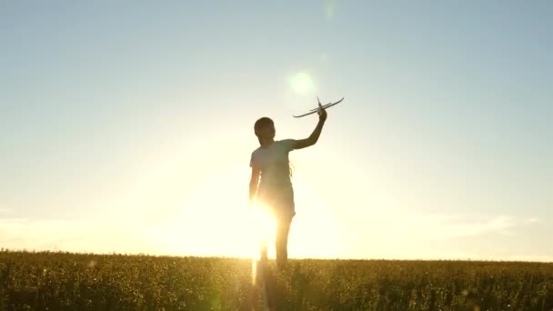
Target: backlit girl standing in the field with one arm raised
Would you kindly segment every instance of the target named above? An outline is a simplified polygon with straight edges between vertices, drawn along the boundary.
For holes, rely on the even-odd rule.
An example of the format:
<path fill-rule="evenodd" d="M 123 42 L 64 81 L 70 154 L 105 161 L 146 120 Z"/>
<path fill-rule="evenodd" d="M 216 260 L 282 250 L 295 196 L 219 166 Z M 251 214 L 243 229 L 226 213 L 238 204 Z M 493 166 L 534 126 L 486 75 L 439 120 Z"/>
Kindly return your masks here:
<path fill-rule="evenodd" d="M 249 183 L 249 204 L 256 198 L 275 216 L 275 246 L 279 268 L 284 268 L 287 264 L 288 233 L 292 218 L 296 216 L 288 153 L 315 145 L 326 120 L 327 111 L 321 109 L 315 130 L 305 139 L 275 140 L 275 124 L 268 117 L 259 118 L 254 125 L 260 146 L 254 150 L 250 160 L 252 176 Z M 262 261 L 266 261 L 266 257 L 267 246 L 264 245 L 261 249 Z"/>

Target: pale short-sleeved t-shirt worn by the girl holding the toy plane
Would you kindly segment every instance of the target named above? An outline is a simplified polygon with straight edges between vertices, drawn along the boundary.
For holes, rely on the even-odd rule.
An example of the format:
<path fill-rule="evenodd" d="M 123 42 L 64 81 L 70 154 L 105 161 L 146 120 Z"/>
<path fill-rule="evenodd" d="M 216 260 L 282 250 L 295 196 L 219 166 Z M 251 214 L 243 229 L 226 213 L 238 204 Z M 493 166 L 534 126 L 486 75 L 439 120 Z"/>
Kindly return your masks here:
<path fill-rule="evenodd" d="M 294 142 L 294 139 L 278 140 L 266 148 L 259 146 L 254 150 L 249 166 L 261 169 L 257 196 L 264 196 L 274 190 L 292 188 L 288 154 L 294 150 Z"/>

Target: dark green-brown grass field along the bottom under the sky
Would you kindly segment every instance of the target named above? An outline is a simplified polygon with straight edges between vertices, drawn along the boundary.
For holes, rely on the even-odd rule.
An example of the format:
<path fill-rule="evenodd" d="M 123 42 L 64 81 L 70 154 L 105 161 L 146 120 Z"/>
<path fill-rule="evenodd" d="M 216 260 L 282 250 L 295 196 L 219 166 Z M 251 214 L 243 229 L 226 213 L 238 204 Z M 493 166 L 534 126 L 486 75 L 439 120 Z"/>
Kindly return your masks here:
<path fill-rule="evenodd" d="M 246 259 L 0 251 L 0 310 L 251 310 Z M 290 260 L 277 310 L 553 310 L 553 264 Z M 260 309 L 260 308 L 256 308 Z"/>

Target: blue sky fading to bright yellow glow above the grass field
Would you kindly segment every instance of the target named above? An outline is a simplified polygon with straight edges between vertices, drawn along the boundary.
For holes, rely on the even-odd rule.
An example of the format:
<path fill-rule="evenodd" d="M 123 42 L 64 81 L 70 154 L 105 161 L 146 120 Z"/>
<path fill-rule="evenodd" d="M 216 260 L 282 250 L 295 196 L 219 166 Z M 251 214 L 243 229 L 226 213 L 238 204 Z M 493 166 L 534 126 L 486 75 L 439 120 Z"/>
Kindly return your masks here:
<path fill-rule="evenodd" d="M 245 256 L 253 124 L 291 257 L 553 261 L 550 1 L 3 1 L 0 246 Z"/>

